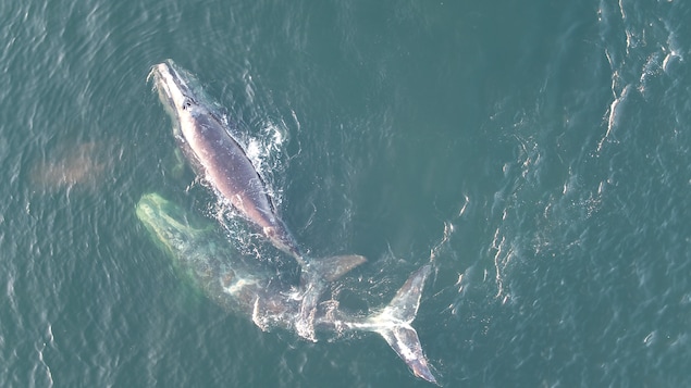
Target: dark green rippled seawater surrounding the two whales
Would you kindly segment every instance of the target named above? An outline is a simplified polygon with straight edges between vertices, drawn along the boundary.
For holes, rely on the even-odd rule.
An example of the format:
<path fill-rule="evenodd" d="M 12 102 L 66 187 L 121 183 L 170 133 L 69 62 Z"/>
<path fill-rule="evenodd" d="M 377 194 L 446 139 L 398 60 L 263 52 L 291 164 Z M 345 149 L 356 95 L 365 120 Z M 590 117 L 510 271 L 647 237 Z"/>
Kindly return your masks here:
<path fill-rule="evenodd" d="M 212 217 L 146 82 L 239 122 L 281 214 L 447 387 L 691 386 L 688 1 L 3 1 L 0 386 L 427 387 L 193 296 L 134 215 Z"/>

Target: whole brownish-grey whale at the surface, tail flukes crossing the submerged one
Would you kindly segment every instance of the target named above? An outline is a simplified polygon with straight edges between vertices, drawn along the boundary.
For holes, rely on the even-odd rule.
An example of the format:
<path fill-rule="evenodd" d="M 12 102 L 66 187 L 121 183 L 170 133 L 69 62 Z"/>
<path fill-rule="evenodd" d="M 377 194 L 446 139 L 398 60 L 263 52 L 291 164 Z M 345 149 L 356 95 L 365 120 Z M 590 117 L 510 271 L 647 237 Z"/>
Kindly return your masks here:
<path fill-rule="evenodd" d="M 277 216 L 261 178 L 245 150 L 235 140 L 223 120 L 211 109 L 212 103 L 187 71 L 166 60 L 149 74 L 159 99 L 173 121 L 173 133 L 180 148 L 197 176 L 205 179 L 223 202 L 230 202 L 254 224 L 276 248 L 300 264 L 301 283 L 316 292 L 306 292 L 296 325 L 304 338 L 314 340 L 317 297 L 326 283 L 363 263 L 361 255 L 342 255 L 309 260 Z"/>

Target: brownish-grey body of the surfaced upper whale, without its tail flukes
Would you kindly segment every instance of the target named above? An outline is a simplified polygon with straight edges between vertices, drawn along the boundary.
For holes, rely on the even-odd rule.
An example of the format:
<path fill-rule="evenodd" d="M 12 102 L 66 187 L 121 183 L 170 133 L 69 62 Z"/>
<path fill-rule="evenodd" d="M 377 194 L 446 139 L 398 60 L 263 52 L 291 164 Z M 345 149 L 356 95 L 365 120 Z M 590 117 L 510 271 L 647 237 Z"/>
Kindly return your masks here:
<path fill-rule="evenodd" d="M 301 261 L 303 254 L 244 148 L 199 87 L 197 78 L 166 60 L 149 77 L 173 122 L 173 134 L 195 173 L 230 202 L 279 249 Z"/>

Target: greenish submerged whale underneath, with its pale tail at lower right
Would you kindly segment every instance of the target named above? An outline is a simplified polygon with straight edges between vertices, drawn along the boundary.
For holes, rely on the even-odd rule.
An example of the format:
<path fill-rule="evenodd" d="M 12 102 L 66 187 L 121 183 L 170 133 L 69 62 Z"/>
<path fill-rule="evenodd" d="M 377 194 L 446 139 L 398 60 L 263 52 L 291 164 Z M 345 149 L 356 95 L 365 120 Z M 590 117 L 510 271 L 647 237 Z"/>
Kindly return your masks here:
<path fill-rule="evenodd" d="M 264 331 L 282 329 L 300 335 L 301 299 L 312 298 L 318 301 L 310 313 L 319 338 L 377 333 L 415 376 L 437 384 L 411 326 L 431 272 L 429 264 L 415 271 L 388 304 L 369 313 L 353 313 L 342 309 L 337 300 L 326 300 L 321 287 L 276 279 L 275 273 L 261 262 L 246 260 L 220 225 L 200 214 L 185 212 L 183 205 L 158 192 L 144 195 L 135 213 L 151 241 L 172 260 L 178 276 L 226 311 L 249 317 Z M 329 268 L 331 265 L 336 268 Z M 326 262 L 321 268 L 334 274 L 342 271 L 337 262 Z"/>

